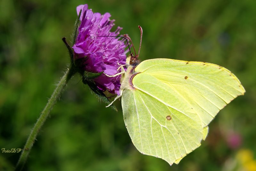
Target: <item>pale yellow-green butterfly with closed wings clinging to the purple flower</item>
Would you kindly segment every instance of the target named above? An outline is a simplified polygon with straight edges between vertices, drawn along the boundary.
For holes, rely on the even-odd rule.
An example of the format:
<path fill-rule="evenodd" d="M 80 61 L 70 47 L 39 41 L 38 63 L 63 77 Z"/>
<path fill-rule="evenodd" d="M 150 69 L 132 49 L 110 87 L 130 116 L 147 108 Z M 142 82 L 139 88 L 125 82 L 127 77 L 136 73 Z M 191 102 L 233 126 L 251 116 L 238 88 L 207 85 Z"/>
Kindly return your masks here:
<path fill-rule="evenodd" d="M 217 113 L 245 89 L 219 65 L 173 59 L 138 63 L 139 53 L 140 48 L 127 57 L 115 100 L 122 97 L 125 127 L 140 153 L 178 164 L 205 140 Z"/>

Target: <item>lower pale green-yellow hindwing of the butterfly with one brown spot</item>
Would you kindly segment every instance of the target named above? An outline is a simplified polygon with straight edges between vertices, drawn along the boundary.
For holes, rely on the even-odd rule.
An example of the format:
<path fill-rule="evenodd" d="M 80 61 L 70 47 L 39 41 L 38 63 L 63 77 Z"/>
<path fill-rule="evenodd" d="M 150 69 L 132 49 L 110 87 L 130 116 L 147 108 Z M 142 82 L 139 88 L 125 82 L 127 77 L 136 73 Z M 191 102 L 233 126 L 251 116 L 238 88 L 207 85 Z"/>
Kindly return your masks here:
<path fill-rule="evenodd" d="M 200 118 L 183 99 L 151 75 L 137 74 L 132 82 L 135 89 L 123 91 L 122 108 L 126 128 L 141 153 L 172 165 L 200 146 Z"/>

